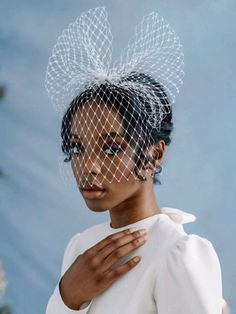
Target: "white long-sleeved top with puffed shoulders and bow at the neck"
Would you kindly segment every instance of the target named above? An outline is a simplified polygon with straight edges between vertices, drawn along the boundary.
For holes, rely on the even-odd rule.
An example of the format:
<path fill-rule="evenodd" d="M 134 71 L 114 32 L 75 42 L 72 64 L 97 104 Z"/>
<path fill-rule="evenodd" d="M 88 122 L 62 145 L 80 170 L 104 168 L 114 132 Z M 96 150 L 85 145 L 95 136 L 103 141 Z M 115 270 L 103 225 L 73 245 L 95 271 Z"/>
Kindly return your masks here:
<path fill-rule="evenodd" d="M 121 228 L 112 228 L 108 220 L 75 234 L 65 249 L 61 276 L 79 254 L 109 234 L 140 227 L 148 230 L 148 239 L 120 260 L 123 264 L 141 255 L 140 262 L 80 310 L 63 303 L 58 280 L 46 314 L 222 314 L 215 249 L 209 240 L 183 229 L 195 220 L 180 209 L 162 207 L 160 214 Z"/>

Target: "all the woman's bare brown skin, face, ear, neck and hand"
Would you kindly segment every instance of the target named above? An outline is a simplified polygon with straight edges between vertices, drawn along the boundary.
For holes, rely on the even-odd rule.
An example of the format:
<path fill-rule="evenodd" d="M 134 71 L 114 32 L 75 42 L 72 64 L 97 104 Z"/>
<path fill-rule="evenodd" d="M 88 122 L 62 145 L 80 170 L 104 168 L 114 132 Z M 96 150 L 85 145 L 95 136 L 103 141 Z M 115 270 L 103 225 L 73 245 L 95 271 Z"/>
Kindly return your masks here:
<path fill-rule="evenodd" d="M 83 176 L 89 176 L 89 180 L 96 177 L 98 184 L 101 186 L 100 183 L 102 183 L 102 187 L 106 189 L 106 193 L 101 199 L 89 200 L 85 198 L 87 206 L 95 212 L 109 210 L 111 227 L 113 228 L 123 227 L 160 213 L 160 208 L 157 205 L 153 192 L 153 181 L 150 176 L 153 171 L 153 164 L 148 164 L 146 169 L 143 169 L 142 175 L 147 176 L 147 181 L 140 182 L 135 180 L 131 175 L 134 166 L 130 158 L 132 150 L 129 149 L 128 145 L 125 146 L 122 140 L 120 140 L 122 143 L 119 144 L 122 144 L 123 150 L 119 155 L 112 157 L 109 155 L 104 160 L 101 160 L 104 158 L 104 155 L 100 155 L 99 151 L 101 147 L 104 147 L 104 143 L 101 145 L 97 137 L 104 131 L 121 132 L 122 124 L 116 111 L 108 108 L 104 110 L 104 106 L 99 111 L 98 103 L 95 100 L 90 101 L 89 105 L 91 107 L 84 106 L 80 108 L 80 111 L 74 115 L 72 121 L 71 132 L 76 134 L 77 137 L 78 135 L 80 136 L 83 145 L 82 143 L 80 144 L 85 149 L 79 149 L 77 153 L 73 153 L 71 165 L 79 187 Z M 84 118 L 86 115 L 87 121 Z M 112 128 L 108 121 L 114 121 Z M 88 128 L 91 129 L 91 126 L 88 126 L 88 123 L 91 122 L 96 125 L 94 138 L 92 138 L 90 132 L 87 132 L 86 136 L 83 133 L 86 130 L 88 131 Z M 78 144 L 79 140 L 77 139 L 76 141 Z M 107 144 L 106 146 L 109 146 Z M 82 160 L 80 159 L 81 152 L 85 152 Z M 160 141 L 158 145 L 151 147 L 149 150 L 150 155 L 159 164 L 163 160 L 164 152 L 164 141 Z M 88 156 L 91 157 L 90 160 Z M 96 159 L 97 156 L 100 158 Z M 110 158 L 112 158 L 115 164 L 113 168 L 111 167 Z M 86 167 L 83 166 L 84 162 L 86 162 Z M 110 172 L 107 172 L 108 167 L 110 167 Z M 116 171 L 117 167 L 118 172 Z M 125 174 L 125 177 L 121 176 L 120 178 L 119 174 L 121 173 Z M 105 174 L 106 179 L 103 180 Z M 116 174 L 116 179 L 121 179 L 120 182 L 117 180 L 109 182 L 109 176 L 113 178 L 114 174 Z M 127 177 L 129 177 L 128 181 L 126 180 Z M 130 229 L 125 229 L 108 235 L 78 255 L 72 265 L 65 271 L 59 283 L 62 300 L 67 307 L 72 310 L 79 310 L 84 302 L 91 301 L 109 288 L 117 279 L 136 267 L 142 258 L 140 255 L 138 260 L 135 260 L 137 256 L 134 256 L 118 267 L 114 267 L 114 265 L 121 258 L 144 245 L 147 240 L 146 234 L 147 230 L 145 229 L 134 232 Z"/>

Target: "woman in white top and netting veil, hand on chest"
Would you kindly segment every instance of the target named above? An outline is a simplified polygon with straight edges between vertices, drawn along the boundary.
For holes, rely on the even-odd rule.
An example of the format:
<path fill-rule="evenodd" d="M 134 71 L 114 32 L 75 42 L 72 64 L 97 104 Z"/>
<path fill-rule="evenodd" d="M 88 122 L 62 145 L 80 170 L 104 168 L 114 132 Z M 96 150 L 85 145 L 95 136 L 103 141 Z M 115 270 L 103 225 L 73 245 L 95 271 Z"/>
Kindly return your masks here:
<path fill-rule="evenodd" d="M 70 239 L 46 314 L 220 314 L 214 247 L 184 231 L 194 215 L 159 207 L 153 190 L 171 142 L 181 46 L 151 13 L 108 75 L 109 40 L 96 42 L 109 37 L 105 29 L 105 8 L 83 13 L 62 33 L 47 70 L 53 103 L 72 99 L 61 126 L 64 161 L 88 208 L 110 219 Z"/>

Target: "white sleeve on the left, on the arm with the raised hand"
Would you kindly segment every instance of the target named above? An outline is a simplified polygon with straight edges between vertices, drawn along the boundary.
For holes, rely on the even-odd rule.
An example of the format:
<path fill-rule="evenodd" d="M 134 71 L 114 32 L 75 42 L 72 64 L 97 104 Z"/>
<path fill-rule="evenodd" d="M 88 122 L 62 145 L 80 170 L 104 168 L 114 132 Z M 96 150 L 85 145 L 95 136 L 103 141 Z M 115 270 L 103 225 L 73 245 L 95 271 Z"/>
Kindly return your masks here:
<path fill-rule="evenodd" d="M 69 266 L 73 263 L 75 256 L 74 256 L 74 247 L 76 242 L 78 242 L 78 237 L 80 236 L 80 233 L 75 234 L 70 241 L 68 242 L 66 249 L 64 251 L 63 260 L 62 260 L 62 267 L 61 267 L 61 277 L 66 272 L 66 270 L 69 268 Z M 78 255 L 78 254 L 77 254 Z M 66 306 L 66 304 L 63 302 L 60 289 L 59 289 L 59 283 L 60 279 L 57 282 L 57 285 L 54 289 L 53 294 L 51 295 L 45 314 L 86 314 L 87 311 L 90 308 L 91 301 L 85 302 L 81 305 L 80 310 L 72 310 L 69 307 Z"/>

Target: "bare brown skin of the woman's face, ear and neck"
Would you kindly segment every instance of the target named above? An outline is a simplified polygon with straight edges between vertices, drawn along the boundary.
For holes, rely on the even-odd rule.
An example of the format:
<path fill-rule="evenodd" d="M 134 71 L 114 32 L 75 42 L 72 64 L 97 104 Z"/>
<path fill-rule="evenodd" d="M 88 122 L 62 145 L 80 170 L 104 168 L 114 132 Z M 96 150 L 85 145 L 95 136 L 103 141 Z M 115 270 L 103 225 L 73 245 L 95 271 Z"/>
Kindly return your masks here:
<path fill-rule="evenodd" d="M 110 121 L 113 121 L 112 125 Z M 95 128 L 93 127 L 94 125 L 96 126 Z M 92 130 L 92 132 L 88 132 L 88 129 Z M 119 137 L 115 141 L 118 145 L 122 144 L 123 151 L 116 154 L 116 156 L 109 155 L 104 163 L 101 161 L 102 157 L 96 160 L 99 152 L 101 154 L 101 147 L 105 143 L 104 140 L 99 142 L 98 136 L 101 133 L 112 131 L 122 133 L 122 130 L 122 122 L 116 110 L 104 107 L 104 104 L 101 101 L 99 103 L 99 100 L 96 99 L 87 101 L 74 114 L 72 119 L 71 133 L 80 136 L 80 140 L 73 138 L 73 142 L 83 147 L 78 154 L 74 153 L 72 155 L 71 161 L 77 185 L 78 187 L 81 186 L 81 178 L 83 176 L 88 176 L 90 182 L 96 177 L 96 182 L 106 189 L 102 199 L 91 200 L 84 198 L 84 200 L 88 208 L 94 212 L 109 210 L 112 228 L 120 228 L 160 213 L 153 190 L 153 179 L 151 178 L 151 173 L 154 170 L 153 164 L 149 163 L 146 169 L 141 172 L 142 175 L 147 177 L 147 181 L 140 182 L 137 179 L 135 180 L 132 171 L 134 167 L 134 163 L 131 161 L 132 150 Z M 112 140 L 106 141 L 106 146 L 111 147 L 113 144 Z M 149 149 L 150 156 L 155 158 L 156 166 L 163 162 L 165 149 L 166 145 L 163 140 Z M 84 162 L 87 162 L 86 167 L 82 167 L 81 162 L 79 163 L 81 154 Z M 115 163 L 113 166 L 111 166 L 111 158 Z M 107 171 L 109 167 L 110 171 Z M 117 180 L 113 177 L 114 173 L 116 173 L 115 178 Z M 124 176 L 121 175 L 122 173 Z M 104 175 L 106 176 L 105 179 Z M 129 178 L 129 180 L 126 178 Z"/>

